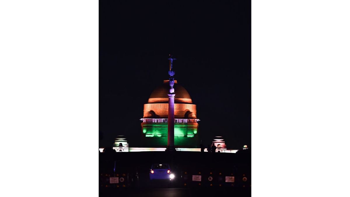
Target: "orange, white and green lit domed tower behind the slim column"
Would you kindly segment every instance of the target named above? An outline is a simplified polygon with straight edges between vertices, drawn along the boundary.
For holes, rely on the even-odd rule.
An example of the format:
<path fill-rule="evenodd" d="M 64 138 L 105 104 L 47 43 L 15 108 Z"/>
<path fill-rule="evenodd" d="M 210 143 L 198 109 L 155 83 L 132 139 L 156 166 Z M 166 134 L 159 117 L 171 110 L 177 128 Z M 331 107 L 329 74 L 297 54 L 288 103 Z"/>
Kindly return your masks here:
<path fill-rule="evenodd" d="M 175 147 L 196 148 L 198 144 L 198 121 L 196 105 L 187 90 L 175 80 L 174 144 Z M 166 147 L 168 142 L 168 93 L 169 80 L 153 90 L 144 104 L 142 141 L 145 147 Z"/>

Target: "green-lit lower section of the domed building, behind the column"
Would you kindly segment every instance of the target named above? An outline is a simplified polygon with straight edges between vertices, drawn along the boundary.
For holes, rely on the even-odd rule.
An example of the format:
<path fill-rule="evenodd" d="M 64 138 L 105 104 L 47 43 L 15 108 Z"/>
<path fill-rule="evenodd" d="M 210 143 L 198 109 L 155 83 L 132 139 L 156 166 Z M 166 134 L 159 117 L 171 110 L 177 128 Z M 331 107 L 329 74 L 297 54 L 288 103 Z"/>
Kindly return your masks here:
<path fill-rule="evenodd" d="M 146 147 L 167 147 L 168 123 L 142 122 L 142 144 Z M 174 144 L 175 147 L 197 148 L 199 147 L 198 123 L 175 123 Z"/>

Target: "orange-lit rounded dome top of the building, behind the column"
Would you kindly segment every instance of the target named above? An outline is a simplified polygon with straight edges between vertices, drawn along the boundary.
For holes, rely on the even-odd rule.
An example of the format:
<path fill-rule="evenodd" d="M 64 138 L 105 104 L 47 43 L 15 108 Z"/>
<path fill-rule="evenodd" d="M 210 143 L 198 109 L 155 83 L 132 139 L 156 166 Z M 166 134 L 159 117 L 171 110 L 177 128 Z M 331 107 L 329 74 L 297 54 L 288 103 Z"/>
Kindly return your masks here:
<path fill-rule="evenodd" d="M 175 89 L 175 103 L 192 103 L 192 99 L 188 91 L 177 84 L 175 81 L 174 89 Z M 161 86 L 155 88 L 151 96 L 149 96 L 148 103 L 159 103 L 159 102 L 168 102 L 168 94 L 169 94 L 169 80 L 164 80 L 164 83 Z"/>

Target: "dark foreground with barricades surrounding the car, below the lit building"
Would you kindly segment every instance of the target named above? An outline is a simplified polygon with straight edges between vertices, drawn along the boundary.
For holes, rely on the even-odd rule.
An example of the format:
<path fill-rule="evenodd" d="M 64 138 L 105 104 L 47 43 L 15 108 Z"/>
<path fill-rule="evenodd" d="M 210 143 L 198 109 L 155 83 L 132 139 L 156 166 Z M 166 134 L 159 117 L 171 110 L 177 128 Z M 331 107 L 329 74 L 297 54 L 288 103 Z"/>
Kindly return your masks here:
<path fill-rule="evenodd" d="M 151 181 L 153 163 L 168 163 L 175 178 Z M 251 154 L 106 151 L 99 155 L 99 187 L 100 196 L 250 196 Z"/>

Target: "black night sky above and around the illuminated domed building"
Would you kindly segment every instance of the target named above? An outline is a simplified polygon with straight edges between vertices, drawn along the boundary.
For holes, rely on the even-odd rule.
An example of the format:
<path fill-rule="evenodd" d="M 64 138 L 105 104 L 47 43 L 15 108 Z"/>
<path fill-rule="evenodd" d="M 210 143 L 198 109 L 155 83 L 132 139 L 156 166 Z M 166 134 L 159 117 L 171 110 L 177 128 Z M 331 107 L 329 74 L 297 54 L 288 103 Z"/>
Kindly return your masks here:
<path fill-rule="evenodd" d="M 251 2 L 99 1 L 100 147 L 140 140 L 143 105 L 168 79 L 197 105 L 198 134 L 251 145 Z M 176 93 L 176 90 L 175 90 Z"/>

